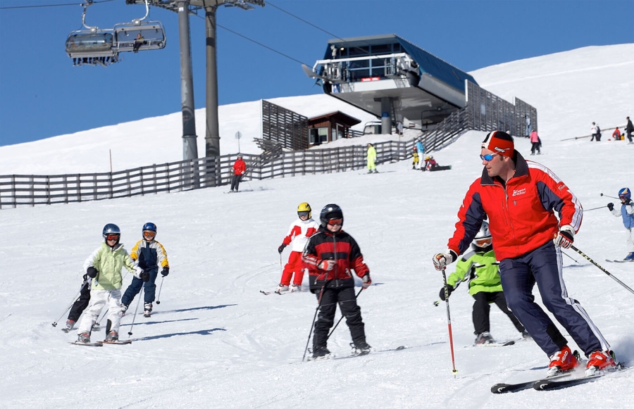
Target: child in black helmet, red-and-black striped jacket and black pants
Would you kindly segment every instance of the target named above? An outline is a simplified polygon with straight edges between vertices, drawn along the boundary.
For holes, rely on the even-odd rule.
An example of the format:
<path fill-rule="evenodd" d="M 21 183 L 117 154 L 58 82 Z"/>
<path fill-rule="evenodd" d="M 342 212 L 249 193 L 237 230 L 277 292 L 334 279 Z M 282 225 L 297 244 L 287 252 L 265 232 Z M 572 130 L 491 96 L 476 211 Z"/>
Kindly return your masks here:
<path fill-rule="evenodd" d="M 330 354 L 326 347 L 328 332 L 335 319 L 337 303 L 352 335 L 356 353 L 368 353 L 361 308 L 354 296 L 352 270 L 363 279 L 363 289 L 370 287 L 370 270 L 356 241 L 342 230 L 343 212 L 336 204 L 321 210 L 321 226 L 304 248 L 302 260 L 309 270 L 311 292 L 317 295 L 319 315 L 313 335 L 313 358 Z"/>

